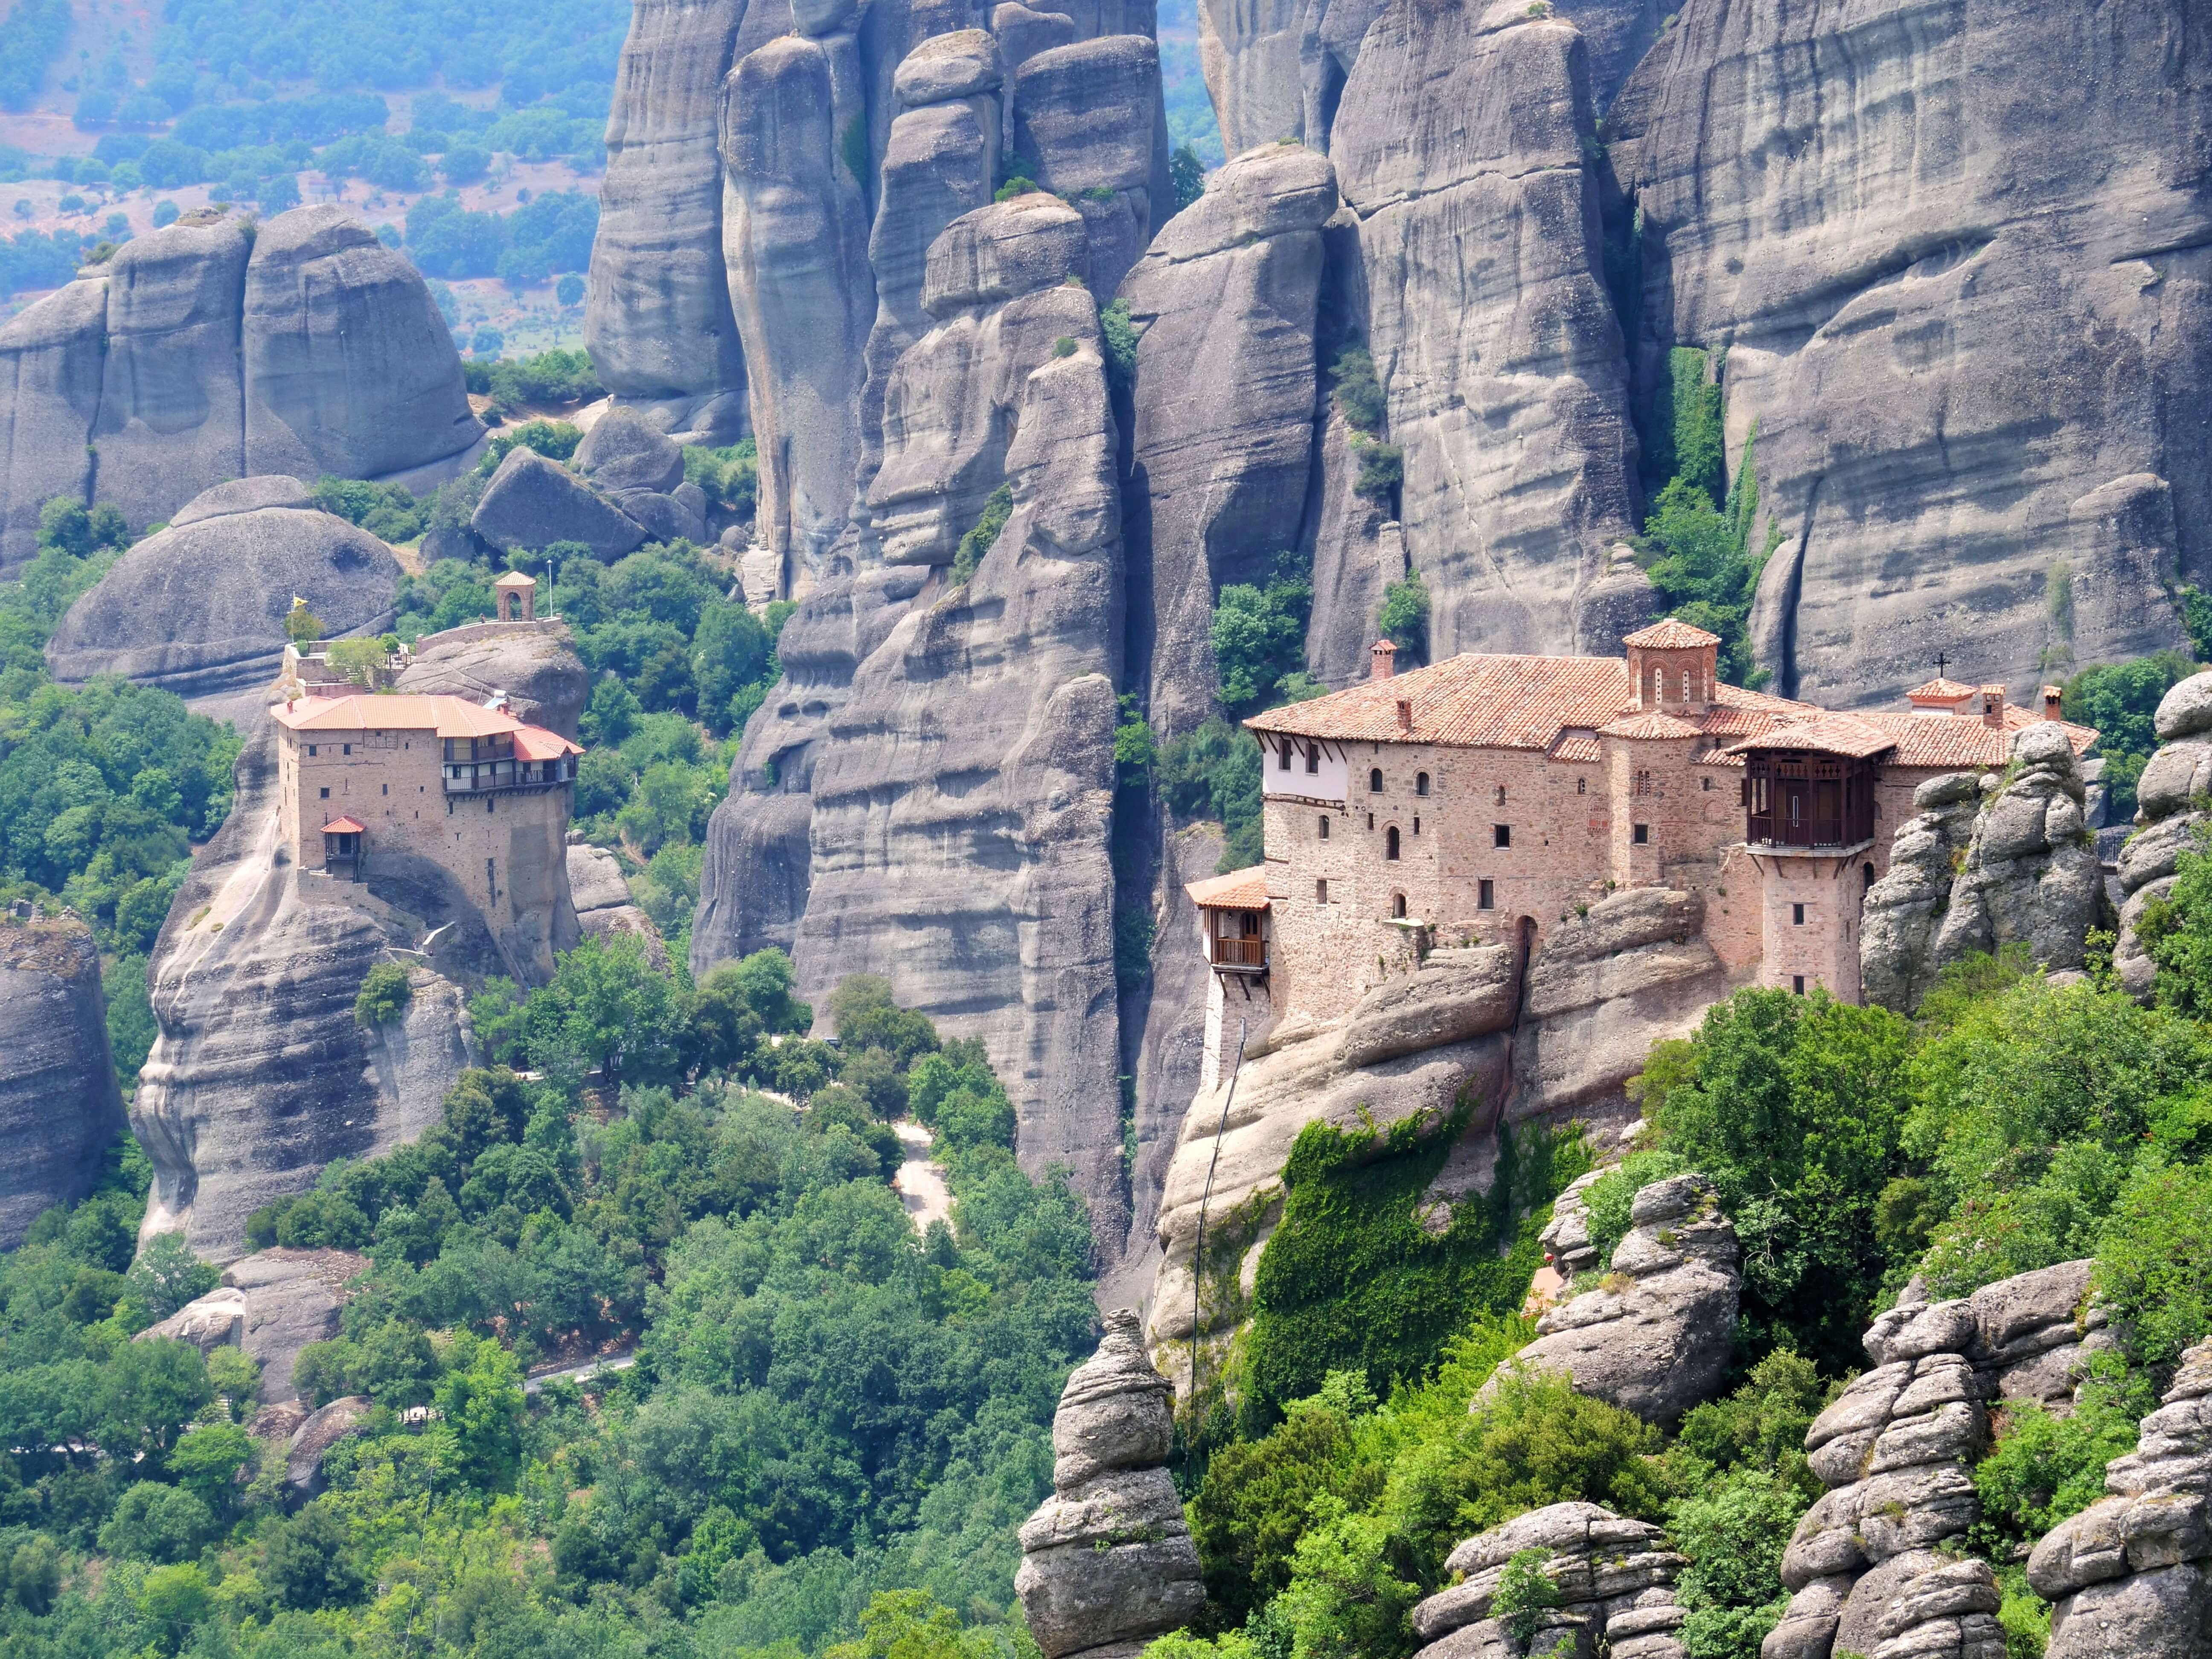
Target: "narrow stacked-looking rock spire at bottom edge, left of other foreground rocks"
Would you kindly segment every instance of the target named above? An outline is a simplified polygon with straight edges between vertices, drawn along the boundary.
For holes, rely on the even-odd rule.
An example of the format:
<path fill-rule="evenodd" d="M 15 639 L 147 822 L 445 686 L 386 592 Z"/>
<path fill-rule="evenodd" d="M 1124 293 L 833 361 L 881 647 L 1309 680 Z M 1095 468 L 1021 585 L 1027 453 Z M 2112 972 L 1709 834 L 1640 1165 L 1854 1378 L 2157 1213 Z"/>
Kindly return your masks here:
<path fill-rule="evenodd" d="M 1053 1413 L 1053 1495 L 1022 1522 L 1022 1597 L 1044 1659 L 1121 1659 L 1206 1604 L 1199 1551 L 1168 1480 L 1170 1387 L 1137 1314 L 1075 1367 Z"/>

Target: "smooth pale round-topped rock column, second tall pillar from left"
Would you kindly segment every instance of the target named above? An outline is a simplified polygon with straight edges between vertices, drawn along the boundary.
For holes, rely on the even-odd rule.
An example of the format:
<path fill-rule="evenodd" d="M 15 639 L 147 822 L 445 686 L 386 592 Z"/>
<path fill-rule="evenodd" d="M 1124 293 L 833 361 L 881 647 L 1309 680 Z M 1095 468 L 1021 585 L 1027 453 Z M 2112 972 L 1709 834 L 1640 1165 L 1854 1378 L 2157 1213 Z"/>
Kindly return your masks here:
<path fill-rule="evenodd" d="M 799 33 L 723 82 L 723 257 L 761 449 L 754 538 L 783 588 L 825 573 L 860 458 L 867 263 L 867 75 L 852 0 L 794 9 Z"/>

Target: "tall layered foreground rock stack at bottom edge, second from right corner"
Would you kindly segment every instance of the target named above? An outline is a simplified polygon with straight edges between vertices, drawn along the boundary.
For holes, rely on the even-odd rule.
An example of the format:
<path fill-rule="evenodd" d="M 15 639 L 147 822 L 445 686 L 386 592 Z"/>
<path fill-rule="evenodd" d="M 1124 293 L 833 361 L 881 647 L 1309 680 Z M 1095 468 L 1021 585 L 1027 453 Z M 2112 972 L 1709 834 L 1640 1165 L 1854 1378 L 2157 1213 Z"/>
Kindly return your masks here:
<path fill-rule="evenodd" d="M 1980 1515 L 1971 1464 L 1993 1398 L 2070 1405 L 2104 1318 L 2086 1307 L 2086 1261 L 1905 1301 L 1867 1332 L 1865 1371 L 1805 1431 L 1829 1491 L 1783 1555 L 1790 1608 L 1763 1659 L 1829 1652 L 2002 1659 L 1997 1582 L 1951 1546 Z"/>

